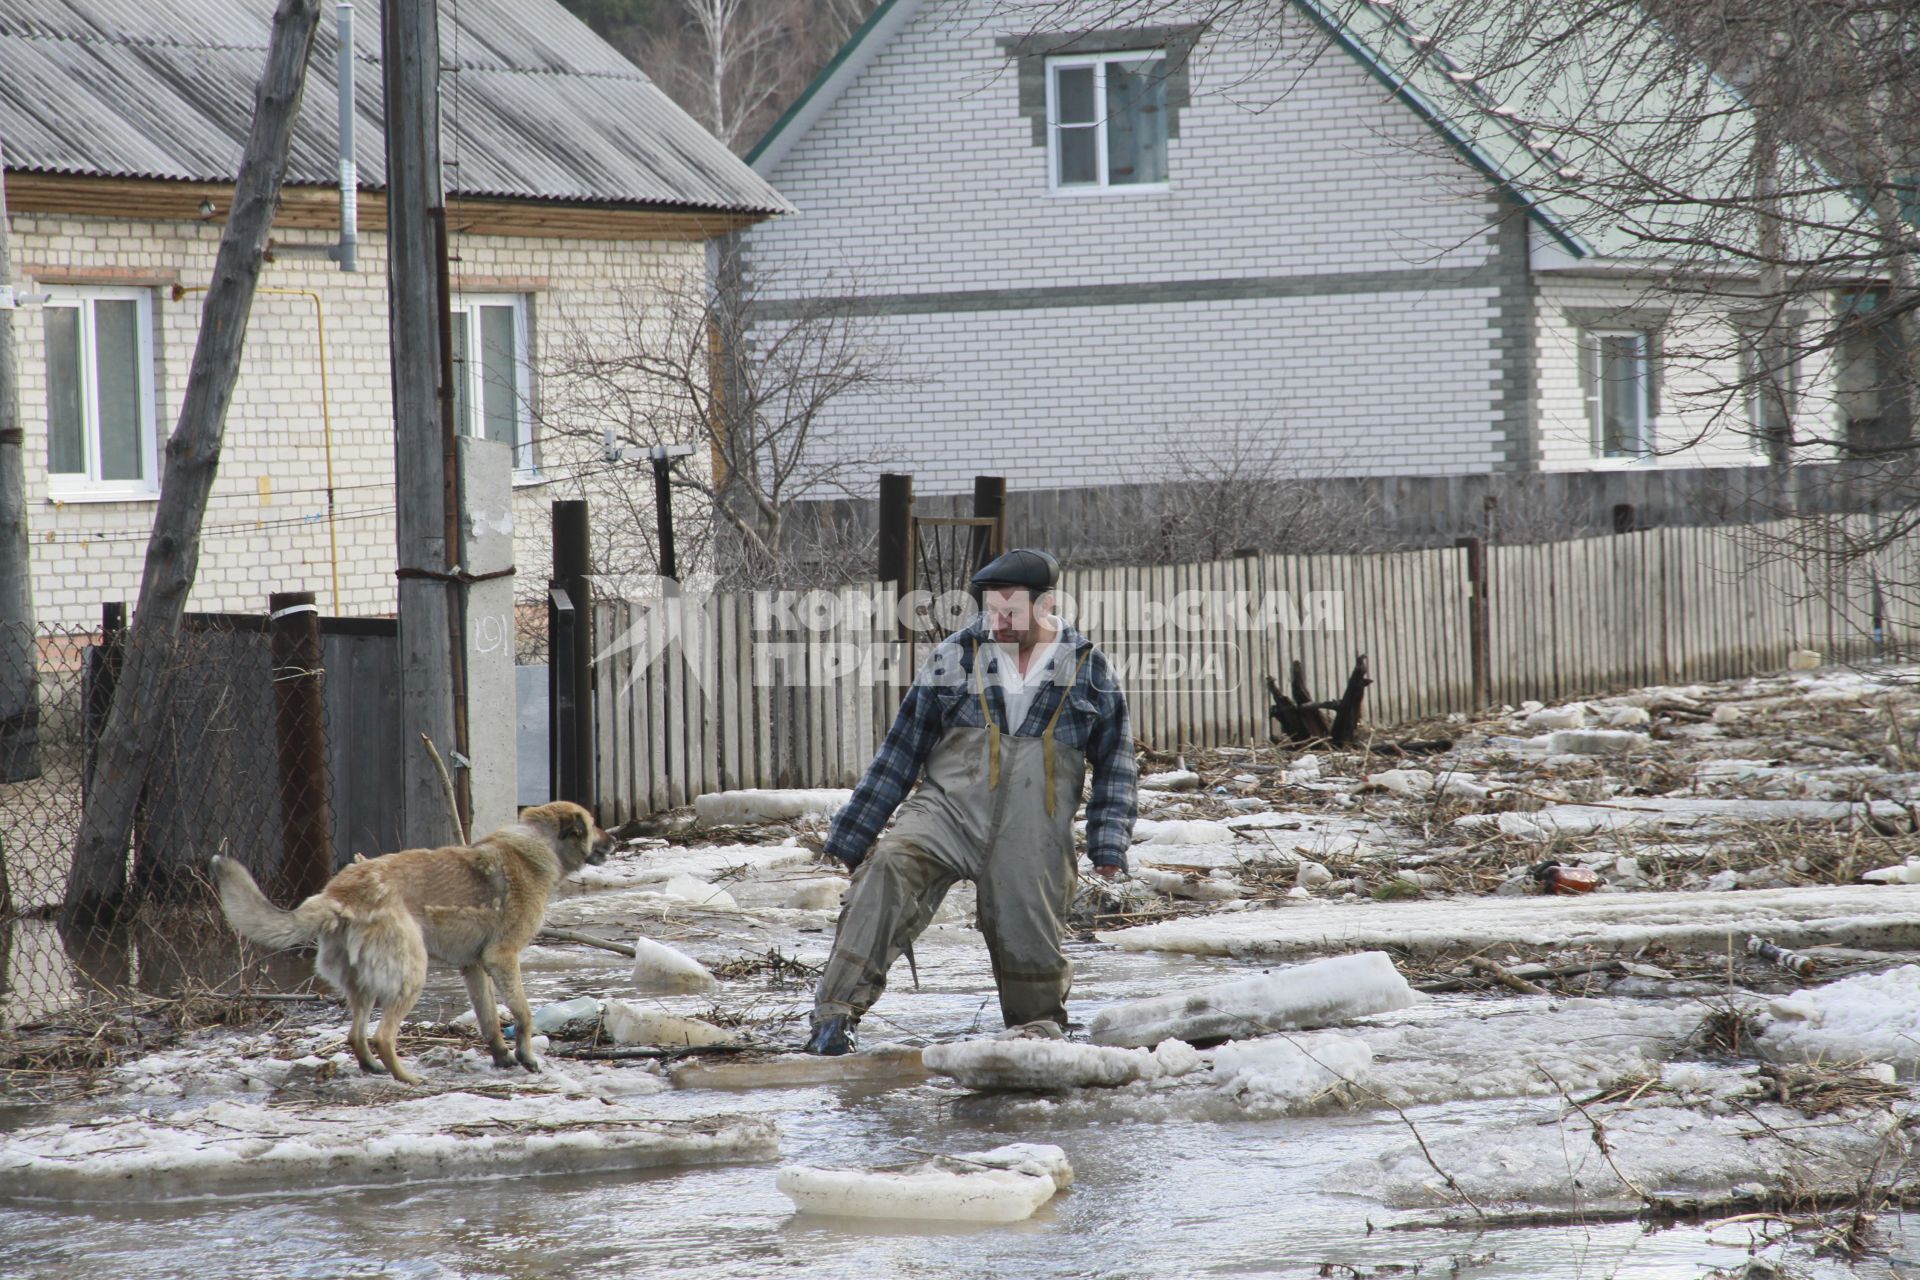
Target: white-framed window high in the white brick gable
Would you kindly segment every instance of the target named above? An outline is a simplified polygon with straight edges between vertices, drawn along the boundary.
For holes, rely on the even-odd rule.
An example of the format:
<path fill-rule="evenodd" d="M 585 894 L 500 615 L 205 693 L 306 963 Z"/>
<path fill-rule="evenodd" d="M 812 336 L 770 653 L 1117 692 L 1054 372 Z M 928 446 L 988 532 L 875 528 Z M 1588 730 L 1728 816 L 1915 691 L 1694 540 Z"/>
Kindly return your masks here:
<path fill-rule="evenodd" d="M 1046 125 L 1056 190 L 1165 186 L 1165 58 L 1160 52 L 1048 58 Z"/>

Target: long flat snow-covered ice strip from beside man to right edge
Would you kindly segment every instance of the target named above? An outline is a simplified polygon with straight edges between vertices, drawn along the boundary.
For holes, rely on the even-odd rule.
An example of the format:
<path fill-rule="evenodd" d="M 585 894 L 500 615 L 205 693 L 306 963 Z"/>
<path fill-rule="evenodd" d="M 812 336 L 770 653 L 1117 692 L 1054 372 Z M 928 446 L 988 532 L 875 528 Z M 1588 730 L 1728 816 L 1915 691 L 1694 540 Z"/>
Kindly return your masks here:
<path fill-rule="evenodd" d="M 1300 902 L 1267 912 L 1196 915 L 1100 931 L 1129 952 L 1288 956 L 1482 946 L 1563 950 L 1724 948 L 1757 933 L 1780 946 L 1920 948 L 1920 885 L 1839 885 L 1741 892 L 1615 892 L 1551 898 Z"/>

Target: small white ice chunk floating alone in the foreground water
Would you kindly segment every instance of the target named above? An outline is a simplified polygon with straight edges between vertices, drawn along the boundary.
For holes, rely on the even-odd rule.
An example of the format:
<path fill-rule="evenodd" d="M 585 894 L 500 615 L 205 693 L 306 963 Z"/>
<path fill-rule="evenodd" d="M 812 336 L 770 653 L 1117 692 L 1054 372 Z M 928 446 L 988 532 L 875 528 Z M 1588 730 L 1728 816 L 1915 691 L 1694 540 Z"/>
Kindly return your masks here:
<path fill-rule="evenodd" d="M 1066 1151 L 1016 1144 L 902 1171 L 789 1165 L 774 1176 L 801 1213 L 945 1222 L 1020 1222 L 1073 1182 Z"/>

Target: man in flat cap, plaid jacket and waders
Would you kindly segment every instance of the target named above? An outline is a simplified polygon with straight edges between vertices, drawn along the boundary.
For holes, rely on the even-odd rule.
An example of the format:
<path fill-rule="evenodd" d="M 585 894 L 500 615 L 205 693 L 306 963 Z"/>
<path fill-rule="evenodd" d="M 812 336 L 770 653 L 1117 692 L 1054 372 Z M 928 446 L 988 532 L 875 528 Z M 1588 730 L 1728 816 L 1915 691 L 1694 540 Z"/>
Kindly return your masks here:
<path fill-rule="evenodd" d="M 852 867 L 852 887 L 814 994 L 808 1054 L 852 1050 L 893 961 L 962 879 L 979 887 L 1000 1017 L 1016 1034 L 1066 1034 L 1073 971 L 1060 923 L 1077 879 L 1073 810 L 1091 766 L 1087 858 L 1108 879 L 1123 875 L 1135 764 L 1112 666 L 1052 616 L 1058 578 L 1044 551 L 1008 551 L 973 574 L 979 618 L 933 651 L 833 819 L 826 850 Z M 876 844 L 895 808 L 899 821 Z"/>

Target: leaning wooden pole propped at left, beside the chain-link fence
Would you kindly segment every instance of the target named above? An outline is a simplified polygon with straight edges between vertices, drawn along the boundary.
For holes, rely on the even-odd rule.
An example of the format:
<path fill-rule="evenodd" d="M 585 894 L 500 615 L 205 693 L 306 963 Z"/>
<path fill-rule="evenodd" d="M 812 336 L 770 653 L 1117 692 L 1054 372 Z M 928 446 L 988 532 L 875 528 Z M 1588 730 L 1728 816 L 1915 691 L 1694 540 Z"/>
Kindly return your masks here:
<path fill-rule="evenodd" d="M 319 19 L 321 0 L 280 0 L 273 13 L 267 71 L 253 96 L 253 129 L 240 155 L 232 213 L 213 259 L 213 282 L 200 315 L 200 340 L 186 372 L 180 420 L 167 439 L 154 533 L 146 543 L 140 597 L 127 637 L 127 666 L 100 735 L 88 804 L 73 842 L 73 869 L 67 873 L 67 898 L 60 917 L 67 929 L 111 923 L 127 898 L 132 812 L 167 710 L 180 612 L 200 564 L 200 524 L 221 461 L 227 407 L 240 374 L 253 286 L 259 284 L 267 234 L 280 203 L 286 152 L 300 115 L 300 96 L 307 86 L 307 58 Z"/>

